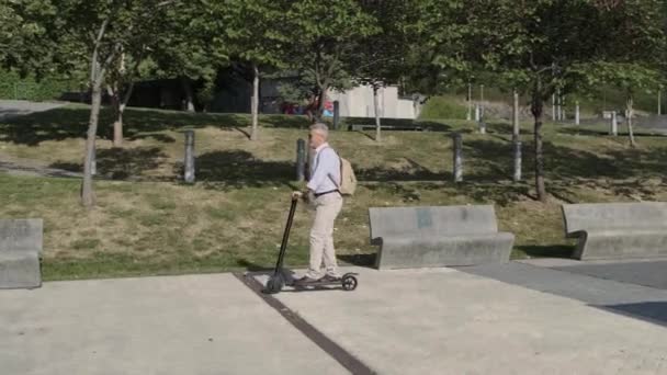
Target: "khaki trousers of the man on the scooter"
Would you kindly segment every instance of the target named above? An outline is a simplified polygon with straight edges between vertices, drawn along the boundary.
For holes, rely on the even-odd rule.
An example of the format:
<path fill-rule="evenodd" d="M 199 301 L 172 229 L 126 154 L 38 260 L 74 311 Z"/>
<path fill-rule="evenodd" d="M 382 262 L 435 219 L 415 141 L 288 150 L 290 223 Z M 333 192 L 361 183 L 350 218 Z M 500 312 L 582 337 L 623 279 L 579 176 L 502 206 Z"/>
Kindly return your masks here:
<path fill-rule="evenodd" d="M 310 263 L 306 276 L 319 279 L 326 273 L 338 277 L 338 264 L 334 249 L 334 223 L 342 208 L 342 196 L 339 193 L 321 195 L 315 200 L 314 205 L 315 220 L 310 229 Z"/>

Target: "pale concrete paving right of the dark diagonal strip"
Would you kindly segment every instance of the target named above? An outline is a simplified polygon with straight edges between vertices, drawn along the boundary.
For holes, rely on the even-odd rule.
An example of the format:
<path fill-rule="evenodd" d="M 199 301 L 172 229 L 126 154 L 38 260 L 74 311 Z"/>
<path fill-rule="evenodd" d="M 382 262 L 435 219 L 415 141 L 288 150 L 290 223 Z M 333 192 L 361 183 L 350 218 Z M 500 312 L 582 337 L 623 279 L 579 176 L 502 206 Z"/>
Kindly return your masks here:
<path fill-rule="evenodd" d="M 278 298 L 381 374 L 667 373 L 658 325 L 451 269 L 359 272 Z"/>

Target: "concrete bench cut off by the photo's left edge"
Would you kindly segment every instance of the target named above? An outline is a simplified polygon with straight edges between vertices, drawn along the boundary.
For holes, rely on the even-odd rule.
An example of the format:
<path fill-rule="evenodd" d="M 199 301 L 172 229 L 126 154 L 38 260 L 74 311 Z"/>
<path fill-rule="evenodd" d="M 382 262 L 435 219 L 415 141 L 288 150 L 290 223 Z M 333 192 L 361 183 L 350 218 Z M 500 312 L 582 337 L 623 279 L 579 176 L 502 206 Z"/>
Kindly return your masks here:
<path fill-rule="evenodd" d="M 42 219 L 0 220 L 0 288 L 42 285 Z"/>

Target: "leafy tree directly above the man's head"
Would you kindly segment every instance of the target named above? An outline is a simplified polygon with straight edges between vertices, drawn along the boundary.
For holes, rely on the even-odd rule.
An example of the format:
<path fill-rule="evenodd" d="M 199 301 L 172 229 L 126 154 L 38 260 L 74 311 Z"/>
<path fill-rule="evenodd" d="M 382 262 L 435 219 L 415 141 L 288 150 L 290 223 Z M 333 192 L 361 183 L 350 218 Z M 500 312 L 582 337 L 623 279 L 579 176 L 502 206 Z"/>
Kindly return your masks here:
<path fill-rule="evenodd" d="M 316 118 L 324 112 L 327 91 L 344 89 L 351 81 L 344 61 L 354 54 L 355 41 L 377 31 L 375 19 L 355 0 L 292 1 L 285 27 L 292 38 L 284 53 L 301 81 L 313 87 Z"/>

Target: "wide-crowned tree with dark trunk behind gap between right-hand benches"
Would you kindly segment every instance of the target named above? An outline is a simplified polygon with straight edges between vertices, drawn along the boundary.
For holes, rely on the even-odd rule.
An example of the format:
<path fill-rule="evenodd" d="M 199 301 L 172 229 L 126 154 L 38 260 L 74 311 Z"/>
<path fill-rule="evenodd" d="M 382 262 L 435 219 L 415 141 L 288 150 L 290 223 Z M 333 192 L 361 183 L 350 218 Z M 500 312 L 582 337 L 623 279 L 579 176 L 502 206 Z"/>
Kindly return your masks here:
<path fill-rule="evenodd" d="M 625 86 L 645 82 L 664 50 L 659 2 L 588 0 L 423 1 L 425 21 L 417 27 L 420 45 L 438 68 L 434 78 L 454 75 L 471 80 L 473 71 L 499 76 L 502 86 L 530 93 L 535 117 L 536 191 L 545 201 L 542 116 L 554 92 L 586 90 L 600 76 Z M 441 14 L 455 15 L 443 20 Z M 446 15 L 445 15 L 446 16 Z M 603 65 L 601 65 L 603 64 Z M 600 67 L 604 72 L 600 72 Z M 433 79 L 431 88 L 438 88 Z M 431 89 L 433 90 L 433 89 Z"/>

